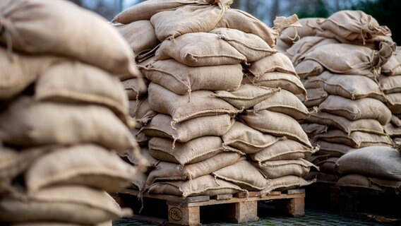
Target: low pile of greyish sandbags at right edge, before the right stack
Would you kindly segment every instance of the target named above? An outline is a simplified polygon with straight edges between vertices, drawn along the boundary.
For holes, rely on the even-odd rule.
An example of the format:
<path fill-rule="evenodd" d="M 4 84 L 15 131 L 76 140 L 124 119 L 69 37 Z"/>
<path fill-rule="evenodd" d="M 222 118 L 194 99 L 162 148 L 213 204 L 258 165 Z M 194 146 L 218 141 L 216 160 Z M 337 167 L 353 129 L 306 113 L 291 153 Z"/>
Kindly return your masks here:
<path fill-rule="evenodd" d="M 337 160 L 337 186 L 374 191 L 401 191 L 401 153 L 391 147 L 371 146 L 354 150 Z"/>

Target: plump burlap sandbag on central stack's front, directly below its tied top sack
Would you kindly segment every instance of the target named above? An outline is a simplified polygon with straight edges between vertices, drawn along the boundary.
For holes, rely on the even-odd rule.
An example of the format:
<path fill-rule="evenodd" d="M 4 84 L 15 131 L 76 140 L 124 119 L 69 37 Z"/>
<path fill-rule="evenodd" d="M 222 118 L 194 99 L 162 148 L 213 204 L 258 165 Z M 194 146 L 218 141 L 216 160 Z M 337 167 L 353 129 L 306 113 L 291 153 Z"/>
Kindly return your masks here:
<path fill-rule="evenodd" d="M 213 33 L 187 33 L 174 40 L 164 40 L 156 51 L 156 59 L 173 58 L 187 66 L 214 66 L 239 64 L 246 57 L 219 35 Z"/>

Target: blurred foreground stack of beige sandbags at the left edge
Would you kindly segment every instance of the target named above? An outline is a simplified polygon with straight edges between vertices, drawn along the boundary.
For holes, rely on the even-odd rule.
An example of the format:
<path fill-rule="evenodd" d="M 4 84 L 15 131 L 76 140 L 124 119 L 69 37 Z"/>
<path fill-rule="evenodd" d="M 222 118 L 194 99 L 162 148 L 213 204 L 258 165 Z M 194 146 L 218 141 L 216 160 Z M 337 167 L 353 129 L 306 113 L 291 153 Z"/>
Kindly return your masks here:
<path fill-rule="evenodd" d="M 131 214 L 133 54 L 107 20 L 68 1 L 0 1 L 0 224 L 104 225 Z M 140 157 L 140 155 L 136 155 Z"/>

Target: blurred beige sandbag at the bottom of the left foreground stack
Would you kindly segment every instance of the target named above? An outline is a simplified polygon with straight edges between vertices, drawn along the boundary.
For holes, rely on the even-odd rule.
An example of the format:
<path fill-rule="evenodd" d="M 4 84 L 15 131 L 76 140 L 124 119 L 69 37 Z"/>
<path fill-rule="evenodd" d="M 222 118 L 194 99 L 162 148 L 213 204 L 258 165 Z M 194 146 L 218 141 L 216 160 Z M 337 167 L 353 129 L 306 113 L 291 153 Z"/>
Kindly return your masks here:
<path fill-rule="evenodd" d="M 3 222 L 58 221 L 97 225 L 131 214 L 131 209 L 121 209 L 105 191 L 86 186 L 52 186 L 30 196 L 0 201 Z"/>

